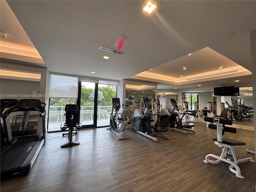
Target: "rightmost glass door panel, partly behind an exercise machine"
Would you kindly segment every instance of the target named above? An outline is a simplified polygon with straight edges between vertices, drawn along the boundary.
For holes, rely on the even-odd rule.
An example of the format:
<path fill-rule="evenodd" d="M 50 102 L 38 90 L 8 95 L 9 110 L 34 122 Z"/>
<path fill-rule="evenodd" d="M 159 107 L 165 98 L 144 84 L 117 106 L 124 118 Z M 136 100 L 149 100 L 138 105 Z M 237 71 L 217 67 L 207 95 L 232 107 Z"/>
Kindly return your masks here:
<path fill-rule="evenodd" d="M 98 84 L 97 127 L 109 125 L 112 98 L 116 98 L 116 88 L 116 85 Z"/>

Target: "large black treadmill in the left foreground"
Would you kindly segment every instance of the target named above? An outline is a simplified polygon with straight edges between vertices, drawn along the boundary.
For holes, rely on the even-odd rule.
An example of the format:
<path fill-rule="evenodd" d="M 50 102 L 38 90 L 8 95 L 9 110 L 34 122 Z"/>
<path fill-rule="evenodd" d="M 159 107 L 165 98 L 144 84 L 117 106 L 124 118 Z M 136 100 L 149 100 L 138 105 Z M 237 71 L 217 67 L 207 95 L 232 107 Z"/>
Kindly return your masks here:
<path fill-rule="evenodd" d="M 4 109 L 6 109 L 7 106 Z M 39 99 L 21 99 L 16 102 L 16 105 L 8 106 L 10 108 L 1 110 L 6 143 L 6 145 L 1 148 L 0 154 L 1 181 L 24 176 L 28 174 L 32 168 L 46 138 L 45 106 L 46 104 Z M 18 111 L 37 111 L 38 116 L 42 118 L 42 134 L 28 134 L 12 137 L 9 114 Z"/>

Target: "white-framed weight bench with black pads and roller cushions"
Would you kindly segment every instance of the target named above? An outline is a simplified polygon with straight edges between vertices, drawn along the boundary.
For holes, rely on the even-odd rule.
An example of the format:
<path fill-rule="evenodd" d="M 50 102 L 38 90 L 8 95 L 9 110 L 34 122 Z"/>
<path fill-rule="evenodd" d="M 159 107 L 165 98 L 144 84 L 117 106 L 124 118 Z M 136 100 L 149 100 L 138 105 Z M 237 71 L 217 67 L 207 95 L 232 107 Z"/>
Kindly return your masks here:
<path fill-rule="evenodd" d="M 214 154 L 208 154 L 208 155 L 206 155 L 204 162 L 212 163 L 212 164 L 218 164 L 221 161 L 226 162 L 226 163 L 230 164 L 229 170 L 232 173 L 236 174 L 236 176 L 238 178 L 244 179 L 244 177 L 241 175 L 241 170 L 237 164 L 240 162 L 246 162 L 246 161 L 254 162 L 254 160 L 252 160 L 252 157 L 242 158 L 242 159 L 236 158 L 234 148 L 242 147 L 242 146 L 246 145 L 245 142 L 241 142 L 241 141 L 237 141 L 237 140 L 233 140 L 233 139 L 222 138 L 222 135 L 224 134 L 225 131 L 231 132 L 231 133 L 236 133 L 236 128 L 225 126 L 226 124 L 232 125 L 232 120 L 204 117 L 204 121 L 216 123 L 216 124 L 209 124 L 208 127 L 211 129 L 217 130 L 217 138 L 213 138 L 213 140 L 216 145 L 218 145 L 219 147 L 222 148 L 222 153 L 220 156 L 217 156 Z M 216 160 L 210 160 L 209 159 L 210 157 L 213 157 Z M 233 157 L 234 161 L 231 160 L 232 157 Z"/>

